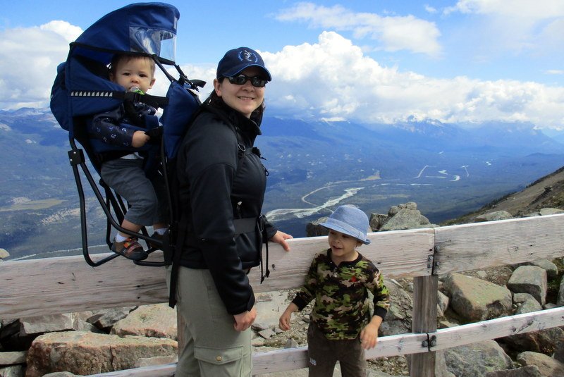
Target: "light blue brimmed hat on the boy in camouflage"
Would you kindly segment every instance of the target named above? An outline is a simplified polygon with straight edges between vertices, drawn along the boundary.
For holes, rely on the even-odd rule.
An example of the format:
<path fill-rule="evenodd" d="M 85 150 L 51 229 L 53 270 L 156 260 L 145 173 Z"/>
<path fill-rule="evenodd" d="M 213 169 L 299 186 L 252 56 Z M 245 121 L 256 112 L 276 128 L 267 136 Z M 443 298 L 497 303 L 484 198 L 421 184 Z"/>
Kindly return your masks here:
<path fill-rule="evenodd" d="M 368 216 L 355 206 L 338 207 L 325 223 L 319 225 L 355 237 L 364 245 L 370 243 L 366 237 L 369 228 Z"/>

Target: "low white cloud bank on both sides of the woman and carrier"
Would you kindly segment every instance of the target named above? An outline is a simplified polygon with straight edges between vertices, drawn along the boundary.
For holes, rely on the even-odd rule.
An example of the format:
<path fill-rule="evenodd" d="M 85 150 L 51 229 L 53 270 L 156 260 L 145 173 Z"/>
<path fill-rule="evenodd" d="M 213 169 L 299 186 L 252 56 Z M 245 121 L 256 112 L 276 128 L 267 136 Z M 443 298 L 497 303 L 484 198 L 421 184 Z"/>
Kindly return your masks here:
<path fill-rule="evenodd" d="M 56 66 L 66 59 L 68 43 L 79 32 L 60 21 L 0 32 L 0 109 L 47 106 Z M 382 66 L 336 32 L 322 32 L 314 44 L 260 52 L 274 77 L 266 91 L 268 113 L 273 116 L 362 123 L 409 117 L 476 123 L 527 120 L 539 128 L 564 123 L 564 87 L 426 77 Z M 215 65 L 186 65 L 183 70 L 189 78 L 208 81 L 202 90 L 202 98 L 207 97 Z M 160 75 L 152 94 L 164 95 L 167 87 L 168 80 Z"/>

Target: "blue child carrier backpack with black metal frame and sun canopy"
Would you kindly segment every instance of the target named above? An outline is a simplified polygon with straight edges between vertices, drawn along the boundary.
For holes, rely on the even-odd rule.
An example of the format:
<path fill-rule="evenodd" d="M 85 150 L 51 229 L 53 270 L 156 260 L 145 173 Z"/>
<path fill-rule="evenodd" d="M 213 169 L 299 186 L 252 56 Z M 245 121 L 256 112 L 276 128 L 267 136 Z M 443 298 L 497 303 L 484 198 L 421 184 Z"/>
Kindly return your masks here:
<path fill-rule="evenodd" d="M 98 261 L 90 258 L 87 242 L 87 221 L 85 194 L 82 190 L 80 171 L 92 187 L 94 195 L 102 206 L 108 219 L 106 243 L 111 247 L 111 227 L 135 235 L 153 245 L 161 245 L 163 249 L 168 243 L 168 235 L 164 240 L 149 237 L 147 230 L 141 234 L 132 234 L 121 228 L 127 206 L 123 199 L 113 192 L 102 180 L 94 180 L 86 163 L 86 156 L 94 169 L 99 173 L 100 163 L 97 160 L 97 146 L 90 142 L 86 130 L 86 122 L 94 114 L 109 111 L 120 106 L 123 101 L 142 101 L 163 109 L 160 122 L 161 168 L 167 187 L 171 166 L 173 166 L 178 144 L 190 123 L 193 113 L 200 106 L 197 96 L 198 87 L 203 87 L 201 80 L 189 80 L 174 61 L 176 48 L 176 25 L 180 14 L 178 9 L 164 3 L 130 4 L 108 13 L 85 30 L 75 42 L 70 44 L 66 61 L 57 68 L 57 75 L 51 89 L 51 112 L 59 125 L 68 130 L 71 150 L 68 152 L 73 169 L 75 183 L 80 201 L 80 226 L 82 231 L 82 254 L 90 266 L 99 266 L 119 256 L 112 254 Z M 108 65 L 114 54 L 131 54 L 149 56 L 156 66 L 170 80 L 166 97 L 149 94 L 125 92 L 125 89 L 109 80 Z M 168 73 L 164 66 L 176 68 L 178 78 Z M 77 143 L 82 146 L 78 147 Z M 86 152 L 86 156 L 85 153 Z M 80 171 L 79 171 L 80 167 Z M 104 194 L 102 194 L 102 187 Z M 168 190 L 168 202 L 171 211 L 171 192 Z M 171 212 L 171 219 L 176 218 Z M 170 230 L 170 226 L 169 226 Z M 170 233 L 170 232 L 168 232 Z M 148 252 L 154 248 L 149 247 Z M 146 266 L 164 266 L 167 262 L 135 261 L 135 264 Z"/>

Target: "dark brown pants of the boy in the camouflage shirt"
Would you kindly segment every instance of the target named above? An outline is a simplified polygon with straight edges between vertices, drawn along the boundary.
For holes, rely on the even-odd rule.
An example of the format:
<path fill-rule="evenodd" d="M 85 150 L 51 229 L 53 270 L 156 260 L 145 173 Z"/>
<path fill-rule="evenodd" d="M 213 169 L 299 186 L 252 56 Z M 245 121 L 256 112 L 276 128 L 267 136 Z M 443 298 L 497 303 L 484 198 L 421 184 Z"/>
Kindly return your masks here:
<path fill-rule="evenodd" d="M 366 360 L 360 338 L 329 340 L 314 323 L 307 328 L 309 377 L 331 377 L 337 361 L 343 377 L 366 377 Z"/>

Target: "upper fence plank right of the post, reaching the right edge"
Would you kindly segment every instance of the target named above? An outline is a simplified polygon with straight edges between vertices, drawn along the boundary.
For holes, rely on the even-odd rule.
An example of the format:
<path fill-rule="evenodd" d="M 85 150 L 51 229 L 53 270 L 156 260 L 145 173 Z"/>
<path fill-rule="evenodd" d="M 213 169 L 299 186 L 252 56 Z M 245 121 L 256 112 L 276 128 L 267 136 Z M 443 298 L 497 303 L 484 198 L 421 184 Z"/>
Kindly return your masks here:
<path fill-rule="evenodd" d="M 564 256 L 564 214 L 435 228 L 435 273 Z"/>

